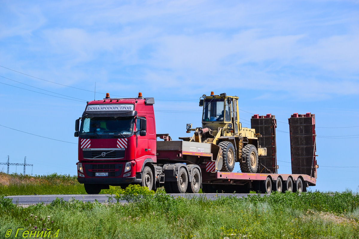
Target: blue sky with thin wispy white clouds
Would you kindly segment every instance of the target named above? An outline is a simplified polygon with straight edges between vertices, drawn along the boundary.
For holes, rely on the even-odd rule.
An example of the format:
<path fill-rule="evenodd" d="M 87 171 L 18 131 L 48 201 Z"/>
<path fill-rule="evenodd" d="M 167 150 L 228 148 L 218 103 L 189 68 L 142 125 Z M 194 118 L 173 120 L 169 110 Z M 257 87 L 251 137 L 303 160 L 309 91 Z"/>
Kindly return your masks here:
<path fill-rule="evenodd" d="M 96 82 L 96 91 L 102 93 L 96 99 L 106 92 L 134 97 L 141 91 L 154 97 L 157 132 L 176 139 L 188 136 L 186 123 L 201 126 L 202 94 L 226 92 L 242 100 L 243 126 L 249 126 L 249 113 L 271 113 L 284 122 L 277 129 L 289 132 L 291 114 L 315 114 L 320 167 L 312 189 L 355 191 L 358 4 L 2 1 L 0 66 L 37 78 L 0 67 L 0 82 L 8 84 L 0 84 L 0 124 L 76 143 L 74 121 L 85 101 L 94 99 Z M 33 174 L 76 173 L 76 144 L 1 126 L 0 133 L 0 162 L 9 155 L 11 163 L 21 163 L 27 156 Z M 277 133 L 277 146 L 278 160 L 290 162 L 288 133 Z M 285 162 L 278 162 L 280 173 L 290 173 Z M 0 169 L 6 171 L 6 166 Z M 10 171 L 15 172 L 15 166 Z"/>

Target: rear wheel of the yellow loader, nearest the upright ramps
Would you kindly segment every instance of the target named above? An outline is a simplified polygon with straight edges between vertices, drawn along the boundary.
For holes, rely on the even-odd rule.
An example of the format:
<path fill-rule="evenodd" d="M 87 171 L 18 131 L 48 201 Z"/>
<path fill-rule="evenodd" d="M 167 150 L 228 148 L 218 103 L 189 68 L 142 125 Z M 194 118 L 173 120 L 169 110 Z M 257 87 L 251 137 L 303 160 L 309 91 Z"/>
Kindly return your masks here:
<path fill-rule="evenodd" d="M 244 162 L 243 162 L 244 161 Z M 240 163 L 242 173 L 256 173 L 258 170 L 258 152 L 253 144 L 247 144 L 242 149 Z"/>

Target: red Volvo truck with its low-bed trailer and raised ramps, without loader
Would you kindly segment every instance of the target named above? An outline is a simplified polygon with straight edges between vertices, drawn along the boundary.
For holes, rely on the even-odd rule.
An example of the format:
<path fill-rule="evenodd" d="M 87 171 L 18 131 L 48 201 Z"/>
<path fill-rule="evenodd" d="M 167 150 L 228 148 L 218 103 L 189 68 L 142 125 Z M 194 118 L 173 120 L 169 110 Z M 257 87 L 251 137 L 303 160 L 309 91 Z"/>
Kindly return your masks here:
<path fill-rule="evenodd" d="M 306 191 L 316 185 L 313 114 L 289 118 L 292 174 L 277 173 L 275 117 L 252 116 L 252 128 L 261 136 L 258 145 L 268 153 L 257 156 L 257 173 L 236 173 L 218 170 L 222 157 L 211 152 L 209 143 L 156 134 L 153 104 L 154 98 L 142 97 L 141 93 L 136 98 L 110 98 L 107 93 L 103 100 L 87 103 L 75 123 L 78 181 L 87 193 L 134 183 L 152 190 L 164 186 L 168 193 L 197 193 L 200 188 L 203 192 L 270 193 Z M 220 107 L 220 103 L 216 105 Z"/>

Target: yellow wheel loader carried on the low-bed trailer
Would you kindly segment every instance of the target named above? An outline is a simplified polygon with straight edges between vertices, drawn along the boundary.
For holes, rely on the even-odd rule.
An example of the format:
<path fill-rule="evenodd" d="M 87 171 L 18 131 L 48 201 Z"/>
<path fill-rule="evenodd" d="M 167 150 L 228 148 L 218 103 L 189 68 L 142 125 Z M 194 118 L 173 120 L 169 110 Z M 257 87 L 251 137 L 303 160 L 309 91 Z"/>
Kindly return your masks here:
<path fill-rule="evenodd" d="M 194 131 L 194 135 L 180 139 L 211 144 L 216 170 L 232 172 L 234 163 L 239 162 L 242 172 L 256 173 L 258 155 L 265 156 L 266 148 L 258 145 L 260 134 L 243 128 L 239 122 L 238 99 L 225 93 L 214 95 L 213 91 L 210 96 L 202 95 L 199 102 L 203 107 L 202 127 L 192 129 L 192 124 L 187 124 L 187 133 Z"/>

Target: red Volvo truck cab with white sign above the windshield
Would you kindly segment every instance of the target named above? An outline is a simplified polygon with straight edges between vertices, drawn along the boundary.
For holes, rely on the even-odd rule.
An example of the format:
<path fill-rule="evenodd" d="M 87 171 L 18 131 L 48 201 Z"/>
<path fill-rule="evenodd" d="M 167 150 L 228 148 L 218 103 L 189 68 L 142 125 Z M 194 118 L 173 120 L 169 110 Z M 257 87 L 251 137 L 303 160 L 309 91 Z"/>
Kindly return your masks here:
<path fill-rule="evenodd" d="M 109 94 L 87 103 L 76 120 L 75 137 L 78 181 L 88 193 L 130 183 L 152 187 L 146 181 L 153 183 L 152 165 L 157 162 L 153 104 L 153 98 L 142 95 L 123 99 Z M 143 175 L 146 166 L 151 172 Z"/>

